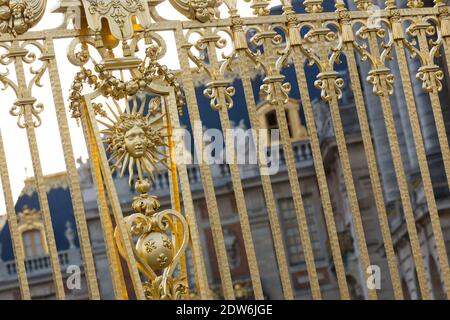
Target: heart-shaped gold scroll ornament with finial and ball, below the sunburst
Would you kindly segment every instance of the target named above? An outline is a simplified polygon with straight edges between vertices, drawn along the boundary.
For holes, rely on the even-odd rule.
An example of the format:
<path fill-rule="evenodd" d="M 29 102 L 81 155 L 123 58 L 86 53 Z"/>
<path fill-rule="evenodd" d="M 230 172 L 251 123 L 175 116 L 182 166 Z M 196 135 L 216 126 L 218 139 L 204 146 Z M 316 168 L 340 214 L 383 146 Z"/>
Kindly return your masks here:
<path fill-rule="evenodd" d="M 134 198 L 132 204 L 135 213 L 125 218 L 130 239 L 131 236 L 138 237 L 132 244 L 133 253 L 139 269 L 147 277 L 143 284 L 146 298 L 179 300 L 186 294 L 187 288 L 183 284 L 185 279 L 174 276 L 174 271 L 188 245 L 188 225 L 186 219 L 175 210 L 159 212 L 160 203 L 155 196 L 148 194 L 149 188 L 146 180 L 136 183 L 140 195 Z M 182 230 L 177 229 L 183 239 L 180 244 L 170 237 L 175 234 L 175 220 L 182 226 Z M 115 239 L 122 253 L 124 244 L 117 229 Z"/>

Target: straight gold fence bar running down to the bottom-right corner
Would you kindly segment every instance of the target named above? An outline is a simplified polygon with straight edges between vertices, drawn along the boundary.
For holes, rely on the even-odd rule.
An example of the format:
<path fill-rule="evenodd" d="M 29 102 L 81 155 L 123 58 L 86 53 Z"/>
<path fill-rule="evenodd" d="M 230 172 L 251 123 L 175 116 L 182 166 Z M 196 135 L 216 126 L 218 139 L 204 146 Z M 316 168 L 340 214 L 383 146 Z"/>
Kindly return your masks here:
<path fill-rule="evenodd" d="M 431 181 L 430 170 L 428 168 L 427 156 L 425 153 L 425 146 L 423 144 L 422 132 L 420 130 L 419 117 L 417 115 L 416 104 L 414 102 L 414 92 L 411 86 L 409 77 L 408 65 L 406 63 L 406 56 L 404 45 L 402 41 L 395 42 L 397 59 L 402 78 L 403 90 L 406 98 L 406 106 L 409 112 L 409 119 L 416 145 L 417 158 L 419 161 L 420 172 L 422 174 L 423 188 L 427 200 L 428 211 L 430 214 L 431 226 L 433 229 L 436 248 L 439 257 L 439 264 L 442 270 L 442 278 L 444 279 L 445 291 L 447 298 L 450 298 L 450 269 L 448 265 L 448 257 L 445 249 L 444 237 L 442 235 L 441 223 L 439 221 L 439 212 L 436 205 L 436 200 L 433 191 L 433 183 Z"/>

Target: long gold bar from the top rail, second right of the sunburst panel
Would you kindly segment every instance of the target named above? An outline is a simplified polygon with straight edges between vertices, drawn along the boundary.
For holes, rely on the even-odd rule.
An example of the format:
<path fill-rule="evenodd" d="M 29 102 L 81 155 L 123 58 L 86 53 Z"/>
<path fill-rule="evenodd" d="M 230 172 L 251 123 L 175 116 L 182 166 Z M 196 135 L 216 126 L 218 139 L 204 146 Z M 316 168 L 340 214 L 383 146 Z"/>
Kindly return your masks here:
<path fill-rule="evenodd" d="M 184 79 L 184 89 L 186 93 L 187 106 L 189 118 L 193 127 L 196 123 L 200 123 L 200 113 L 198 110 L 197 100 L 195 97 L 195 87 L 192 79 L 191 68 L 189 66 L 189 59 L 186 49 L 182 46 L 185 43 L 181 23 L 178 24 L 175 33 L 177 42 L 178 57 L 181 64 L 182 76 Z M 225 247 L 225 240 L 223 237 L 222 226 L 220 222 L 219 208 L 217 206 L 216 194 L 214 189 L 214 182 L 212 179 L 211 168 L 203 160 L 203 155 L 200 150 L 203 150 L 204 143 L 202 139 L 198 139 L 194 133 L 194 143 L 197 156 L 200 159 L 200 175 L 205 191 L 206 206 L 210 218 L 211 231 L 213 235 L 214 247 L 216 249 L 217 261 L 219 266 L 220 278 L 222 281 L 222 289 L 224 297 L 227 300 L 234 300 L 233 281 L 231 278 L 230 267 L 228 264 L 227 251 Z"/>

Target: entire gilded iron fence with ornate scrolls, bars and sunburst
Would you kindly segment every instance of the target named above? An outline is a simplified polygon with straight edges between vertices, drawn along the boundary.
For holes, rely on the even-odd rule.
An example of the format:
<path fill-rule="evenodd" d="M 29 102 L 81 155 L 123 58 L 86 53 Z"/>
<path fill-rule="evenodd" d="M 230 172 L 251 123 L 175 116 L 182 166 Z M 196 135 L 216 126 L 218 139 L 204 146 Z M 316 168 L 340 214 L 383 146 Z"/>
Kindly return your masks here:
<path fill-rule="evenodd" d="M 251 4 L 254 16 L 241 17 L 236 0 L 223 2 L 170 1 L 176 10 L 187 17 L 184 21 L 171 21 L 159 15 L 156 7 L 158 2 L 153 1 L 60 1 L 57 11 L 65 15 L 64 24 L 60 28 L 43 31 L 33 31 L 32 28 L 42 18 L 46 1 L 34 0 L 21 4 L 11 1 L 3 8 L 6 12 L 2 18 L 0 47 L 4 54 L 0 63 L 9 69 L 9 73 L 15 72 L 15 77 L 3 73 L 0 81 L 10 90 L 8 94 L 11 94 L 11 90 L 16 94 L 17 100 L 11 109 L 11 115 L 18 118 L 18 126 L 27 134 L 57 298 L 65 298 L 65 288 L 36 139 L 36 131 L 45 126 L 45 119 L 40 117 L 43 106 L 33 97 L 33 87 L 40 85 L 45 74 L 50 77 L 90 298 L 99 299 L 100 291 L 69 133 L 68 112 L 82 126 L 85 135 L 115 297 L 129 297 L 124 277 L 124 274 L 128 274 L 134 295 L 138 299 L 188 298 L 190 290 L 195 291 L 201 299 L 212 298 L 211 282 L 205 266 L 208 253 L 203 250 L 200 240 L 189 167 L 179 157 L 183 142 L 175 134 L 180 128 L 182 112 L 187 113 L 192 126 L 201 120 L 201 103 L 196 96 L 196 75 L 193 70 L 204 81 L 204 95 L 210 100 L 210 107 L 218 112 L 224 133 L 232 129 L 229 110 L 233 108 L 233 96 L 237 90 L 242 90 L 245 96 L 249 121 L 254 130 L 265 129 L 258 115 L 257 92 L 274 107 L 311 296 L 313 299 L 322 298 L 310 226 L 302 198 L 302 181 L 299 180 L 289 122 L 284 112 L 284 105 L 289 100 L 293 85 L 289 82 L 292 79 L 286 79 L 283 75 L 283 70 L 288 65 L 294 68 L 298 83 L 340 297 L 349 299 L 350 293 L 310 92 L 319 90 L 321 99 L 329 107 L 360 268 L 368 270 L 371 266 L 368 244 L 340 112 L 345 85 L 351 85 L 354 95 L 394 297 L 402 299 L 404 296 L 388 221 L 385 192 L 377 164 L 376 146 L 369 124 L 367 108 L 370 106 L 366 105 L 367 92 L 362 85 L 366 80 L 381 105 L 420 292 L 424 299 L 432 297 L 392 111 L 390 97 L 397 94 L 394 90 L 395 68 L 400 73 L 401 89 L 405 96 L 436 243 L 441 280 L 448 297 L 449 260 L 417 112 L 420 106 L 416 105 L 414 99 L 411 77 L 415 76 L 422 83 L 424 92 L 429 95 L 445 174 L 447 182 L 450 182 L 450 151 L 442 110 L 446 106 L 441 105 L 440 97 L 450 65 L 449 7 L 440 0 L 435 1 L 433 7 L 423 7 L 421 1 L 408 1 L 407 8 L 397 8 L 395 1 L 388 0 L 385 9 L 375 10 L 370 1 L 360 0 L 355 1 L 356 10 L 350 11 L 342 0 L 336 0 L 333 12 L 323 12 L 323 1 L 307 0 L 302 4 L 307 13 L 301 14 L 295 13 L 290 1 L 285 0 L 282 1 L 282 14 L 270 15 L 268 1 L 254 0 Z M 224 10 L 228 12 L 226 18 L 219 18 L 219 7 L 222 4 L 227 8 Z M 74 16 L 74 12 L 79 15 Z M 72 20 L 79 22 L 73 29 L 69 28 Z M 170 71 L 158 62 L 168 54 L 165 39 L 160 32 L 170 33 L 175 39 L 180 65 L 178 71 Z M 61 74 L 54 48 L 56 39 L 72 39 L 68 59 L 80 68 L 74 75 L 69 104 L 63 98 Z M 37 49 L 40 55 L 33 54 L 30 47 Z M 140 50 L 144 47 L 145 50 Z M 228 51 L 222 54 L 223 50 Z M 447 64 L 437 63 L 440 55 L 445 57 Z M 408 67 L 409 56 L 419 62 L 418 69 L 414 70 L 415 74 L 411 74 Z M 336 66 L 342 60 L 345 60 L 348 68 L 347 84 L 336 71 Z M 40 65 L 36 68 L 38 62 Z M 33 68 L 31 77 L 28 75 L 27 78 L 25 67 Z M 255 68 L 262 75 L 262 85 L 258 90 L 254 88 Z M 315 88 L 311 88 L 307 82 L 311 68 L 318 71 Z M 361 71 L 364 68 L 368 70 L 367 74 Z M 240 80 L 241 87 L 235 87 L 230 74 Z M 264 299 L 241 171 L 236 161 L 238 155 L 234 152 L 232 138 L 226 134 L 224 136 L 229 177 L 239 213 L 253 294 L 255 299 Z M 133 139 L 140 142 L 135 143 L 133 141 L 136 140 Z M 195 134 L 193 139 L 195 152 L 202 159 L 201 152 L 205 142 Z M 30 299 L 26 259 L 10 187 L 8 157 L 1 137 L 0 163 L 8 225 L 16 258 L 15 272 L 22 298 Z M 266 157 L 259 156 L 260 180 L 283 295 L 286 299 L 293 299 L 295 290 L 282 237 L 273 181 L 267 174 L 268 167 Z M 161 168 L 168 170 L 171 190 L 171 209 L 165 211 L 160 211 L 158 199 L 149 195 L 154 172 Z M 233 279 L 211 166 L 202 160 L 198 168 L 223 297 L 234 299 Z M 132 201 L 130 199 L 134 211 L 132 215 L 125 216 L 122 211 L 113 180 L 114 174 L 128 174 L 130 177 L 129 184 L 137 194 Z M 342 194 L 337 196 L 343 197 Z M 136 238 L 139 238 L 137 244 L 134 241 Z M 192 288 L 189 288 L 187 281 L 187 246 L 190 247 L 195 274 L 195 287 Z M 365 280 L 369 281 L 371 274 L 364 275 Z M 367 289 L 367 297 L 377 299 L 377 290 Z"/>

